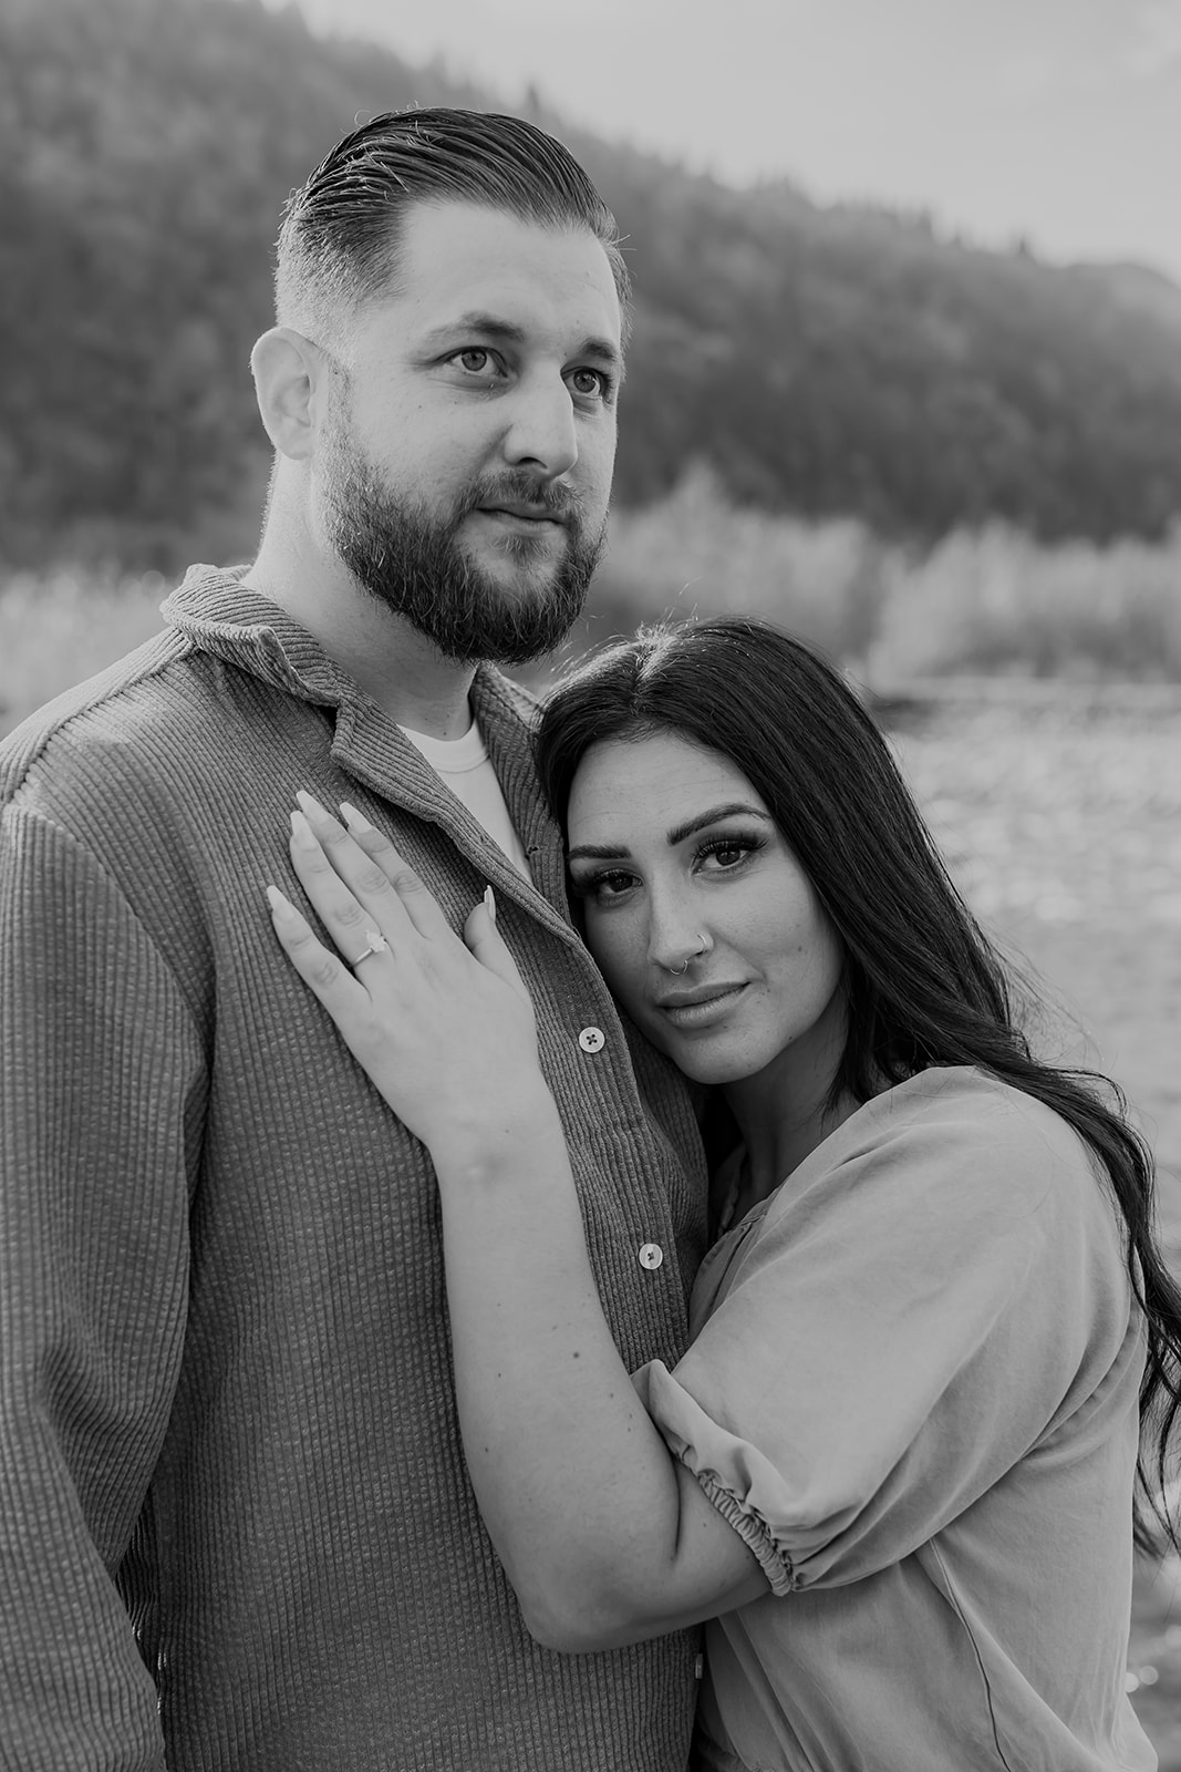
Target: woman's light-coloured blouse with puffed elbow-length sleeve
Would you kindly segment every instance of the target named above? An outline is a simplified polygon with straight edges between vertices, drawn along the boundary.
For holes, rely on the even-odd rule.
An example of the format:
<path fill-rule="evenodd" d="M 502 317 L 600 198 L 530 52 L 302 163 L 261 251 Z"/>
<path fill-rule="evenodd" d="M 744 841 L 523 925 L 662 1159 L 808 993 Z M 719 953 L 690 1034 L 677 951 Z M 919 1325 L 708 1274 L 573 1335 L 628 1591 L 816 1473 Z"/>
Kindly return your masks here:
<path fill-rule="evenodd" d="M 1151 1772 L 1124 1694 L 1144 1329 L 1105 1178 L 940 1069 L 726 1233 L 636 1386 L 772 1593 L 706 1627 L 696 1765 Z"/>

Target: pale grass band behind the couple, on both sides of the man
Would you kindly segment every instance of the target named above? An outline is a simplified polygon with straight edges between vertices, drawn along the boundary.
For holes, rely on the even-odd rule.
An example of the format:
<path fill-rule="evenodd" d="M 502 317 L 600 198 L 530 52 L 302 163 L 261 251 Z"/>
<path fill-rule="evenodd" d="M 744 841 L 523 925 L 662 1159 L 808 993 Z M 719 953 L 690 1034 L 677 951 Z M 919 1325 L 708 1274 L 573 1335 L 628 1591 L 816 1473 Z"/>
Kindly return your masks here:
<path fill-rule="evenodd" d="M 165 588 L 115 569 L 0 581 L 0 730 L 147 638 Z M 853 517 L 735 507 L 694 468 L 660 503 L 616 512 L 563 656 L 641 620 L 722 613 L 779 622 L 875 688 L 963 673 L 1181 682 L 1181 525 L 1160 546 L 1045 548 L 988 528 L 919 555 Z"/>

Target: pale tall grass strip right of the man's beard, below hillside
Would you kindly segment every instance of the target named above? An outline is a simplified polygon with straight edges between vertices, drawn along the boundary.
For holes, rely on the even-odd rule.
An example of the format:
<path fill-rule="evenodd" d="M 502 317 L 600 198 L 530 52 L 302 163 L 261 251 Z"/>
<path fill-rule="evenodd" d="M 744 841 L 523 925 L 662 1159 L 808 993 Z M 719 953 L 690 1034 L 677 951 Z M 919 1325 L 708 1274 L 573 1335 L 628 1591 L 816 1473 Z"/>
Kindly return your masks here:
<path fill-rule="evenodd" d="M 595 631 L 742 611 L 816 641 L 869 682 L 949 673 L 1181 682 L 1181 525 L 1158 546 L 1039 546 L 1002 526 L 921 555 L 855 519 L 731 505 L 696 468 L 618 512 Z M 597 636 L 597 634 L 595 634 Z"/>

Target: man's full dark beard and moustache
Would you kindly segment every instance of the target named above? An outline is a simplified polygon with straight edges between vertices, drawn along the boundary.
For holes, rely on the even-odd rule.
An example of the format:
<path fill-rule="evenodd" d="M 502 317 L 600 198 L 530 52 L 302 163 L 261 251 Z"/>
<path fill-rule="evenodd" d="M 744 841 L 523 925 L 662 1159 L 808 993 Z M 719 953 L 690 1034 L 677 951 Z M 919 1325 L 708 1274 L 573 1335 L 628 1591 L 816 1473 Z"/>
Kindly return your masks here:
<path fill-rule="evenodd" d="M 400 500 L 343 425 L 331 439 L 326 521 L 329 539 L 363 590 L 405 617 L 444 657 L 524 664 L 561 645 L 583 611 L 606 544 L 606 521 L 588 535 L 577 498 L 524 473 L 505 473 L 467 489 L 450 512 Z M 567 546 L 547 583 L 505 590 L 464 551 L 457 532 L 478 507 L 544 505 L 565 523 Z M 510 535 L 505 553 L 522 571 L 540 556 L 542 537 Z"/>

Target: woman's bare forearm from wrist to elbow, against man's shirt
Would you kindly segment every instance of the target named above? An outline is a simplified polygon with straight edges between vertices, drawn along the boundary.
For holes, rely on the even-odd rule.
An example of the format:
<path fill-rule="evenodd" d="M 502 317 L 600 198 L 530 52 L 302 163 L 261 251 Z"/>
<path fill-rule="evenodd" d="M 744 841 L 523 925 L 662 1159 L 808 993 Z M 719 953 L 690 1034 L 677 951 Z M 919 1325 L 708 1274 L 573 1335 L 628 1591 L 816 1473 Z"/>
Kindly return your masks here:
<path fill-rule="evenodd" d="M 471 1481 L 535 1636 L 598 1643 L 675 1561 L 676 1467 L 611 1340 L 552 1100 L 441 1162 Z"/>

